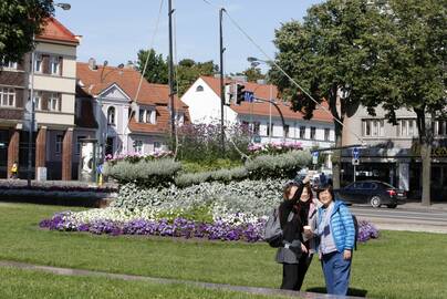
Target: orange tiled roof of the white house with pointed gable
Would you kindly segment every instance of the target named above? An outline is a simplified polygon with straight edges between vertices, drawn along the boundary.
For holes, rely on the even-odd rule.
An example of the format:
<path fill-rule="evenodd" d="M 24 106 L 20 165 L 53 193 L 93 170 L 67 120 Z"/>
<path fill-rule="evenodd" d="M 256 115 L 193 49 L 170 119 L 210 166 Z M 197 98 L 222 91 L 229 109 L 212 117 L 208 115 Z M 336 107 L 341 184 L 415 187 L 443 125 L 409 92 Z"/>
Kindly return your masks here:
<path fill-rule="evenodd" d="M 101 80 L 101 76 L 103 80 Z M 114 66 L 97 65 L 91 70 L 89 63 L 76 63 L 76 78 L 83 83 L 83 91 L 93 96 L 98 95 L 113 84 L 117 84 L 133 101 L 136 96 L 141 73 L 134 69 L 118 69 Z M 175 109 L 188 114 L 188 106 L 175 96 Z M 135 116 L 129 122 L 129 130 L 142 133 L 164 133 L 169 128 L 169 86 L 164 84 L 148 83 L 145 79 L 136 99 L 136 103 L 156 106 L 157 123 L 138 123 Z"/>

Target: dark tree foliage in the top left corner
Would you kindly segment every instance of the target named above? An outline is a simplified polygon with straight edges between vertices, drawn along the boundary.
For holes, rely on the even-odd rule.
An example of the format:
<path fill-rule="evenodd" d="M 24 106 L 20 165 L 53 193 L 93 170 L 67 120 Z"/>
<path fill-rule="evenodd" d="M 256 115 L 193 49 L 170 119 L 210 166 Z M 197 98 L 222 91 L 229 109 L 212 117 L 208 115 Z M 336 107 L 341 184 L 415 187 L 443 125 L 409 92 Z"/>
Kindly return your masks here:
<path fill-rule="evenodd" d="M 20 61 L 54 12 L 52 0 L 0 1 L 0 61 Z"/>

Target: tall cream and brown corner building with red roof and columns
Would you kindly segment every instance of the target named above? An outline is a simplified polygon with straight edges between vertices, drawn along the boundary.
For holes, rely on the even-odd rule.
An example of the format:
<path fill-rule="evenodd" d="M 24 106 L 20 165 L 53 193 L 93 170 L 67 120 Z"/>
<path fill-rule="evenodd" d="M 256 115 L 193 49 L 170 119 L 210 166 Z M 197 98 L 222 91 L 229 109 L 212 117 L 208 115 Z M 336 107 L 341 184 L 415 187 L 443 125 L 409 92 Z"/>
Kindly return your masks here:
<path fill-rule="evenodd" d="M 79 38 L 51 18 L 35 42 L 32 53 L 21 62 L 8 62 L 0 72 L 0 143 L 7 147 L 0 150 L 0 175 L 9 177 L 12 163 L 18 162 L 19 177 L 27 177 L 32 90 L 33 176 L 41 169 L 49 179 L 71 179 Z"/>

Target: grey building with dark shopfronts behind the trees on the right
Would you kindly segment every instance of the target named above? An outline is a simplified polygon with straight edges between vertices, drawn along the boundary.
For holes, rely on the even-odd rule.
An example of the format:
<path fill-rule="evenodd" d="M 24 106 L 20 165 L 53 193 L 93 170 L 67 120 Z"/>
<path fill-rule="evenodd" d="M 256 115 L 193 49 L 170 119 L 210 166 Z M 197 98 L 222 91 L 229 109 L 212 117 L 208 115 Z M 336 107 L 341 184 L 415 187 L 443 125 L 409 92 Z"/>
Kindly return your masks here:
<path fill-rule="evenodd" d="M 410 197 L 419 197 L 422 192 L 422 163 L 418 147 L 416 113 L 406 109 L 396 111 L 397 124 L 393 125 L 384 117 L 385 111 L 378 106 L 376 116 L 368 115 L 365 107 L 344 121 L 343 145 L 360 144 L 361 136 L 366 144 L 360 150 L 360 165 L 356 166 L 358 179 L 374 178 L 387 182 L 409 192 Z M 433 199 L 447 195 L 447 127 L 444 120 L 434 123 L 434 146 L 432 152 L 432 189 Z M 352 153 L 342 153 L 343 179 L 352 182 Z M 437 198 L 438 197 L 438 198 Z"/>

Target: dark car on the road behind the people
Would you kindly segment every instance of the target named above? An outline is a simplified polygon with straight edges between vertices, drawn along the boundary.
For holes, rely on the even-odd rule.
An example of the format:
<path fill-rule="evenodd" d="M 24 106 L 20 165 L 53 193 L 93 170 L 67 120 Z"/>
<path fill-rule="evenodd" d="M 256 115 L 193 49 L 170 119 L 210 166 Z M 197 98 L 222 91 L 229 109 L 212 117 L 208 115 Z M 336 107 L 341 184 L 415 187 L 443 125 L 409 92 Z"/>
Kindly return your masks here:
<path fill-rule="evenodd" d="M 355 182 L 334 192 L 339 199 L 347 204 L 370 204 L 375 208 L 382 205 L 395 208 L 406 199 L 405 190 L 380 181 Z"/>

